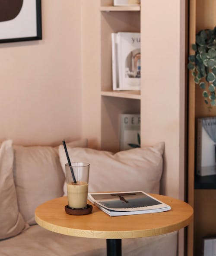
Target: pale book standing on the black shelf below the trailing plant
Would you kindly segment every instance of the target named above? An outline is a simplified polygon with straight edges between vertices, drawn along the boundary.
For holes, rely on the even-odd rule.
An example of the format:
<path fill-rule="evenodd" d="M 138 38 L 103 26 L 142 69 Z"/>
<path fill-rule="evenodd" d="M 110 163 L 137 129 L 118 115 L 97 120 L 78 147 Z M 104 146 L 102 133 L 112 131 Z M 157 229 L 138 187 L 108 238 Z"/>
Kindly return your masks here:
<path fill-rule="evenodd" d="M 197 174 L 216 174 L 216 117 L 197 118 Z"/>

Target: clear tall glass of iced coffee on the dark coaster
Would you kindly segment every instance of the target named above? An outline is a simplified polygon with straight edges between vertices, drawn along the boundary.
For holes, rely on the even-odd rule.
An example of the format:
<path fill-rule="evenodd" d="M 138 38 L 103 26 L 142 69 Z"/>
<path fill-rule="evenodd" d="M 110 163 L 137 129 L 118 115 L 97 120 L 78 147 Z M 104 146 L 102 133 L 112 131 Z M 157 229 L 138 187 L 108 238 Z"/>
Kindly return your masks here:
<path fill-rule="evenodd" d="M 89 164 L 75 162 L 65 164 L 68 206 L 72 209 L 85 209 L 89 185 Z"/>

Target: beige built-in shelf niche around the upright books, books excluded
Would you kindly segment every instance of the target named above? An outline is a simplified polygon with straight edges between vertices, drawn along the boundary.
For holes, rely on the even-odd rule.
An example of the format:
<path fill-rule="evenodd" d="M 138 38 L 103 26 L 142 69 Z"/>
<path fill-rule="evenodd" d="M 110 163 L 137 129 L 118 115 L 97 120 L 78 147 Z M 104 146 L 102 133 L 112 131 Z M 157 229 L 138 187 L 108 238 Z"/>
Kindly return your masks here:
<path fill-rule="evenodd" d="M 140 6 L 101 0 L 101 148 L 119 151 L 120 115 L 140 113 L 140 91 L 112 91 L 111 33 L 140 32 Z"/>

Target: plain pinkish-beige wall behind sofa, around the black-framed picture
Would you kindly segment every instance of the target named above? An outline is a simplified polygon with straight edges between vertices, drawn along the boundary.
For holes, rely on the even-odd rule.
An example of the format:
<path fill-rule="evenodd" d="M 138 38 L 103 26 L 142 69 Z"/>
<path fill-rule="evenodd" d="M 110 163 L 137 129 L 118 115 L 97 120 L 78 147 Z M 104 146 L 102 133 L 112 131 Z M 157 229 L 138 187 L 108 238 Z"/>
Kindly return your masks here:
<path fill-rule="evenodd" d="M 81 3 L 41 2 L 43 39 L 0 44 L 0 141 L 81 137 Z"/>

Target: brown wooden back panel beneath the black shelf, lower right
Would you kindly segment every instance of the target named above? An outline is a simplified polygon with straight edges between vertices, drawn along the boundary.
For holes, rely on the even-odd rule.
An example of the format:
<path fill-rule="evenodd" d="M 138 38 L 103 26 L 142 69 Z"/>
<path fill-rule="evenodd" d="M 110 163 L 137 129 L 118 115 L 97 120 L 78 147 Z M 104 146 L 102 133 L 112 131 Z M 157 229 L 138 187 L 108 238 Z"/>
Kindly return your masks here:
<path fill-rule="evenodd" d="M 194 192 L 194 255 L 202 255 L 202 237 L 216 236 L 216 190 Z"/>

